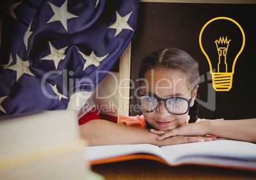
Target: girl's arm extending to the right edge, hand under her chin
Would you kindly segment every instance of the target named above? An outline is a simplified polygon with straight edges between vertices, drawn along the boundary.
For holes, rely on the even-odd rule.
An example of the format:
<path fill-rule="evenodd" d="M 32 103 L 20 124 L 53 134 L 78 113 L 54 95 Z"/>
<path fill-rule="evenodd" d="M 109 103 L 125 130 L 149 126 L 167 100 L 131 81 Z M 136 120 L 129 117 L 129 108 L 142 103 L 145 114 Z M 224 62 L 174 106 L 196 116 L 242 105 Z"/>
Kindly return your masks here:
<path fill-rule="evenodd" d="M 243 120 L 205 120 L 192 124 L 183 124 L 168 132 L 150 130 L 159 134 L 159 140 L 171 136 L 206 136 L 234 139 L 256 143 L 256 119 Z"/>

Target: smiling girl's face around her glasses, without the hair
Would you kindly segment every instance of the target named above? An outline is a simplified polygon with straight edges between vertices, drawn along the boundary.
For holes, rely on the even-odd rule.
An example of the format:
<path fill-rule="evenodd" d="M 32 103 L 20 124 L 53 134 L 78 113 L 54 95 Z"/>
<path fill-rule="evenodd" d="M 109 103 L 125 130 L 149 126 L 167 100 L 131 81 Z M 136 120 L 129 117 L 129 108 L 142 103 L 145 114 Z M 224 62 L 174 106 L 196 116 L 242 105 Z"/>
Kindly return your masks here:
<path fill-rule="evenodd" d="M 140 94 L 151 94 L 158 98 L 169 98 L 171 96 L 192 98 L 190 106 L 194 105 L 197 88 L 192 92 L 192 87 L 188 85 L 185 74 L 179 70 L 167 70 L 157 68 L 146 72 L 145 82 L 141 84 Z M 181 124 L 185 124 L 188 119 L 188 112 L 183 115 L 173 115 L 169 113 L 164 105 L 164 101 L 159 104 L 153 112 L 143 112 L 146 122 L 154 129 L 167 131 L 174 129 Z"/>

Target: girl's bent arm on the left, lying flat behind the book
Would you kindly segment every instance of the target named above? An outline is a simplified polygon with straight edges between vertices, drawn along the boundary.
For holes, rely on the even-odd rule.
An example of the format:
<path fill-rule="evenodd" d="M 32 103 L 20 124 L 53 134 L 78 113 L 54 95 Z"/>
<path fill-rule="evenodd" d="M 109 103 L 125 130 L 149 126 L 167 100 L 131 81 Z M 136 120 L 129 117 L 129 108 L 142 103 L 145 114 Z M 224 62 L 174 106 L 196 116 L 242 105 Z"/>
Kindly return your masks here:
<path fill-rule="evenodd" d="M 157 139 L 159 135 L 153 134 L 148 129 L 129 127 L 116 124 L 108 120 L 90 120 L 80 125 L 82 138 L 85 138 L 90 146 L 97 145 L 124 145 L 150 143 L 152 145 L 164 146 L 182 143 L 211 141 L 206 137 L 175 136 L 163 140 Z"/>

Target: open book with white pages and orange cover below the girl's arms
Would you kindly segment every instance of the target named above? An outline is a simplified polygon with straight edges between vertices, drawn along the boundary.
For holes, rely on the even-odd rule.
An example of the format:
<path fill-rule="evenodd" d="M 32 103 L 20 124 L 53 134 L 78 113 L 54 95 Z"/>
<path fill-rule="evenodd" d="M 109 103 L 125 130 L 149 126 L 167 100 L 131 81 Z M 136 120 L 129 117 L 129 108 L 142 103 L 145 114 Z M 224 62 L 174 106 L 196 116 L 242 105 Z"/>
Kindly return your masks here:
<path fill-rule="evenodd" d="M 228 139 L 160 148 L 139 144 L 89 146 L 84 150 L 92 165 L 146 158 L 170 166 L 192 164 L 256 171 L 256 145 Z"/>

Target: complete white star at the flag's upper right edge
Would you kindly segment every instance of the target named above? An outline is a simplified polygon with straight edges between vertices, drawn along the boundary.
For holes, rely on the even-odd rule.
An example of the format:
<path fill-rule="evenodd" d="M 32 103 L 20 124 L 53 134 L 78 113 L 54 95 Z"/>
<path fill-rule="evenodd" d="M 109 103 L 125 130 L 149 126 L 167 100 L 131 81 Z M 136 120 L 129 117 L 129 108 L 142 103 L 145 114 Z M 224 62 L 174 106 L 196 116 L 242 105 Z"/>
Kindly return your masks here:
<path fill-rule="evenodd" d="M 115 32 L 115 36 L 114 37 L 116 37 L 123 29 L 129 29 L 129 30 L 134 31 L 131 28 L 131 26 L 127 23 L 127 21 L 129 20 L 131 14 L 132 14 L 132 12 L 129 13 L 128 15 L 125 15 L 124 17 L 122 17 L 116 11 L 117 21 L 115 23 L 113 23 L 110 27 L 108 27 L 108 28 L 116 29 L 117 30 Z"/>

